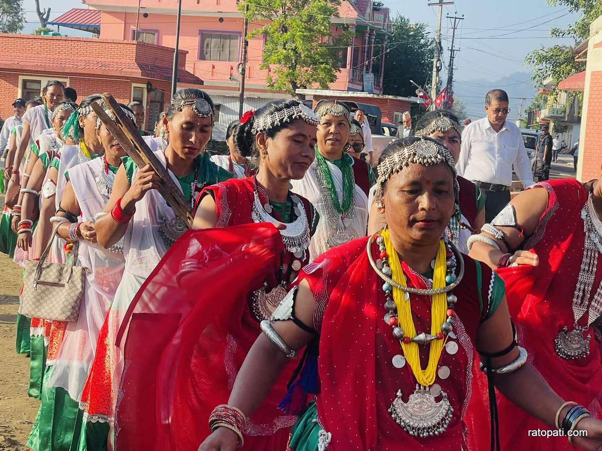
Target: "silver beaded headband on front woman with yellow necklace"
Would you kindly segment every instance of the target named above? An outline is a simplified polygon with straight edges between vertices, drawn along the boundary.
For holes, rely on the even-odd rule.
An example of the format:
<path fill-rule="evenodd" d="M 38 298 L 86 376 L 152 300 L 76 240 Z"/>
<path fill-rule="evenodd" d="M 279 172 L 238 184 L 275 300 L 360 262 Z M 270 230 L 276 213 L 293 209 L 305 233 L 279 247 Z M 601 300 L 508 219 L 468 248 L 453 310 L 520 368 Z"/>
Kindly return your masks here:
<path fill-rule="evenodd" d="M 458 203 L 459 185 L 456 179 L 456 162 L 453 159 L 452 154 L 441 144 L 433 143 L 430 140 L 421 139 L 415 141 L 408 147 L 400 149 L 393 155 L 385 158 L 379 163 L 377 172 L 378 178 L 376 179 L 376 192 L 374 193 L 374 200 L 382 205 L 382 197 L 384 194 L 384 186 L 387 180 L 393 176 L 393 174 L 402 171 L 408 167 L 411 163 L 420 164 L 422 166 L 433 166 L 439 163 L 447 164 L 452 170 L 454 179 L 454 194 L 456 197 L 456 203 Z"/>

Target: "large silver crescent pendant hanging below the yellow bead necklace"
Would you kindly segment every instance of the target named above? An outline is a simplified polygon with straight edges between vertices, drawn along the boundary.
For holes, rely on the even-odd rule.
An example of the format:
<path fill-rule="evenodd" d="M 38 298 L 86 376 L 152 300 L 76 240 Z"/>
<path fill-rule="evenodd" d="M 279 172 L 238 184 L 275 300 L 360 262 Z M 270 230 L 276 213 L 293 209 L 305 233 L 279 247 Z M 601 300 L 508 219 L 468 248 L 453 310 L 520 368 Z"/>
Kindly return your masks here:
<path fill-rule="evenodd" d="M 389 407 L 391 418 L 409 435 L 414 437 L 431 437 L 439 435 L 447 429 L 452 420 L 453 407 L 447 399 L 447 393 L 439 393 L 441 400 L 436 401 L 428 387 L 416 385 L 416 390 L 403 402 L 402 391 Z"/>

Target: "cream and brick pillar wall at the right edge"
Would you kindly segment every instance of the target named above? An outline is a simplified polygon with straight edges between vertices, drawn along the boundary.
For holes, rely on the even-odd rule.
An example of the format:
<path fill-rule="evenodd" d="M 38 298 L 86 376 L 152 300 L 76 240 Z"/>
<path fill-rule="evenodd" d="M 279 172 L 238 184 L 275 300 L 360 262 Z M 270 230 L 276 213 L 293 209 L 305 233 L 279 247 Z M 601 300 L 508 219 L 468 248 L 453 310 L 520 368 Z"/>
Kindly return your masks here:
<path fill-rule="evenodd" d="M 602 16 L 590 26 L 577 180 L 598 179 L 602 170 Z"/>

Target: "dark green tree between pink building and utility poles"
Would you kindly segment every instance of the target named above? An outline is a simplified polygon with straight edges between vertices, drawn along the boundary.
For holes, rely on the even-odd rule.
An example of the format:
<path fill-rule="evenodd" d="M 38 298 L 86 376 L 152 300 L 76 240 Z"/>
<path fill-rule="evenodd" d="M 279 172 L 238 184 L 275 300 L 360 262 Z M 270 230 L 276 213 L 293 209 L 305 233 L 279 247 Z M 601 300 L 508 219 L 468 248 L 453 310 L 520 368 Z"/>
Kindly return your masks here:
<path fill-rule="evenodd" d="M 426 23 L 411 23 L 399 14 L 391 22 L 388 50 L 385 59 L 383 94 L 415 96 L 413 80 L 425 87 L 433 70 L 435 41 L 426 32 Z"/>

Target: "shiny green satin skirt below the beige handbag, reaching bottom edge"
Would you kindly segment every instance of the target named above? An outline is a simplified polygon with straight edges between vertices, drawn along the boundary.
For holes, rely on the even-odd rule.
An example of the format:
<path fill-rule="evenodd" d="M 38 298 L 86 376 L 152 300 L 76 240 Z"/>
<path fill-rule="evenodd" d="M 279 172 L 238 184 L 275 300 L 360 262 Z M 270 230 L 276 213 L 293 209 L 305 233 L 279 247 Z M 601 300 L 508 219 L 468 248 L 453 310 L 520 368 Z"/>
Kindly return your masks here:
<path fill-rule="evenodd" d="M 27 446 L 34 451 L 70 451 L 79 449 L 83 411 L 63 388 L 49 388 L 52 367 L 44 373 L 42 404 L 31 429 Z"/>

